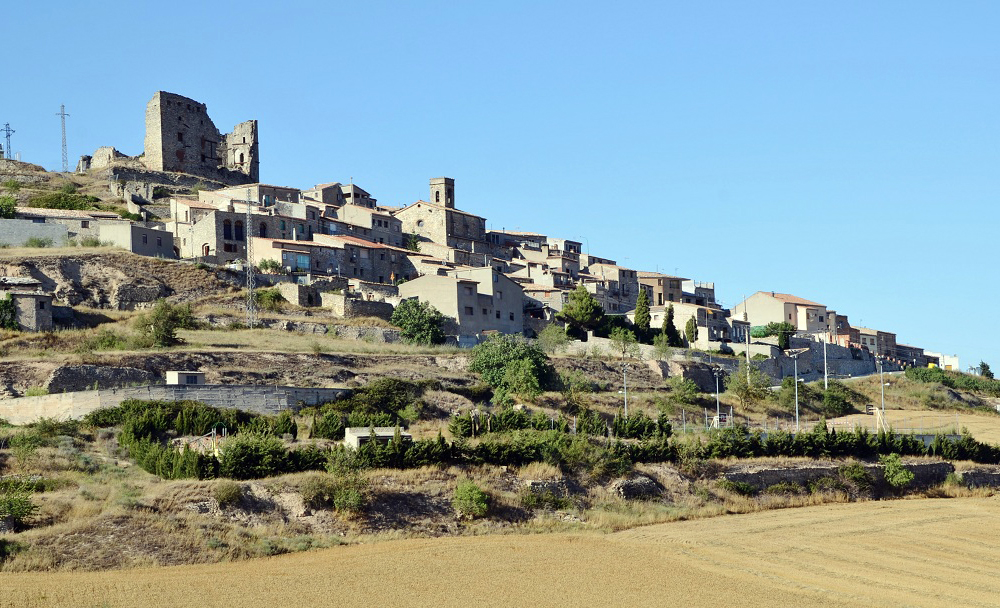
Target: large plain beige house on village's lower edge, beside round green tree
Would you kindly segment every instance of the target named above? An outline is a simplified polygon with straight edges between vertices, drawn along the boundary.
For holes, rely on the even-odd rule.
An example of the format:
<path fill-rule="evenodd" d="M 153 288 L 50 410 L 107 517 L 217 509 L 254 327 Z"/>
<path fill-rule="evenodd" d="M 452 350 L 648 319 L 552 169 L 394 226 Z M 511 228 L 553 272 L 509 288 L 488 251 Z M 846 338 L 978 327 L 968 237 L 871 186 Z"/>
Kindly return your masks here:
<path fill-rule="evenodd" d="M 460 268 L 427 274 L 399 285 L 403 299 L 429 302 L 448 318 L 448 335 L 476 336 L 487 331 L 524 331 L 521 286 L 493 268 Z"/>

